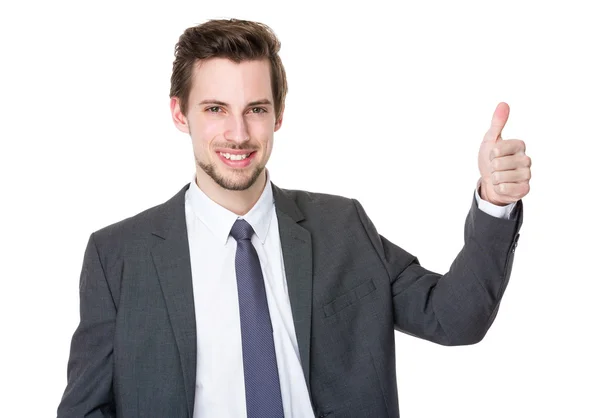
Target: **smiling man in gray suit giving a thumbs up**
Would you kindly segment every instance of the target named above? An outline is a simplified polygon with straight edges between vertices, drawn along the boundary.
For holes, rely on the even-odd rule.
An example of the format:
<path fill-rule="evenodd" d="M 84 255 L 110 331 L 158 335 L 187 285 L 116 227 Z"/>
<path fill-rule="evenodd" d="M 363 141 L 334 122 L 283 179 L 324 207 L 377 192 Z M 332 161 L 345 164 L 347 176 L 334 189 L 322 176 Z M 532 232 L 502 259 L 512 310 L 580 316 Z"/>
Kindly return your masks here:
<path fill-rule="evenodd" d="M 395 329 L 463 345 L 491 326 L 531 176 L 523 141 L 500 137 L 508 106 L 481 144 L 465 244 L 442 276 L 356 200 L 271 182 L 279 47 L 240 20 L 180 37 L 171 113 L 196 173 L 91 234 L 59 417 L 398 417 Z"/>

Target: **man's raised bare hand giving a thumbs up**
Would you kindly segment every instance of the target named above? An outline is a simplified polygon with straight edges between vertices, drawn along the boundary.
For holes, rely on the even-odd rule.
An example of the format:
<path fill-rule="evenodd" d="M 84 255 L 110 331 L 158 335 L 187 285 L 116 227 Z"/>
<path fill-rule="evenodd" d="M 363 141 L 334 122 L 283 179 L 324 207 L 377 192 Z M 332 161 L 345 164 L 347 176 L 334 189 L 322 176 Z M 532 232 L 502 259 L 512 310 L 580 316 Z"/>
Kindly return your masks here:
<path fill-rule="evenodd" d="M 525 155 L 525 142 L 502 139 L 502 129 L 510 109 L 501 102 L 479 148 L 480 195 L 498 206 L 516 202 L 529 193 L 531 158 Z"/>

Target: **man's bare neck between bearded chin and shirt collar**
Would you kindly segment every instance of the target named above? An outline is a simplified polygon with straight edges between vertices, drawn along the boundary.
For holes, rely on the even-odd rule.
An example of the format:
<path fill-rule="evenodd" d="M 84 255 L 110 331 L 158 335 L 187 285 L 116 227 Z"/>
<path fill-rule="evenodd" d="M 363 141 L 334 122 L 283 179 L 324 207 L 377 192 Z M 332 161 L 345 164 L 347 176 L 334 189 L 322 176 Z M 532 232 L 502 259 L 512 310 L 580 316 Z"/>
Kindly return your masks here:
<path fill-rule="evenodd" d="M 196 184 L 213 202 L 225 209 L 243 216 L 252 209 L 262 194 L 267 183 L 266 169 L 258 179 L 246 190 L 227 190 L 219 186 L 202 169 L 196 169 Z"/>

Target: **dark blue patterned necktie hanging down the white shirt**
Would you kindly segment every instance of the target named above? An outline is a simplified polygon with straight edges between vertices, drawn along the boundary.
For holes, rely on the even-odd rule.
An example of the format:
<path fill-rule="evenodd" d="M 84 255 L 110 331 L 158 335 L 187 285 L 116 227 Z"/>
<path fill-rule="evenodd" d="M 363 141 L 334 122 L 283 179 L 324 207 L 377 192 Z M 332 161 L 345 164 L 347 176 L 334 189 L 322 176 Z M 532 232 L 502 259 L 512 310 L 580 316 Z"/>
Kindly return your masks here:
<path fill-rule="evenodd" d="M 283 418 L 279 372 L 260 261 L 250 238 L 252 226 L 238 219 L 231 228 L 237 241 L 235 273 L 240 304 L 244 384 L 248 418 Z"/>

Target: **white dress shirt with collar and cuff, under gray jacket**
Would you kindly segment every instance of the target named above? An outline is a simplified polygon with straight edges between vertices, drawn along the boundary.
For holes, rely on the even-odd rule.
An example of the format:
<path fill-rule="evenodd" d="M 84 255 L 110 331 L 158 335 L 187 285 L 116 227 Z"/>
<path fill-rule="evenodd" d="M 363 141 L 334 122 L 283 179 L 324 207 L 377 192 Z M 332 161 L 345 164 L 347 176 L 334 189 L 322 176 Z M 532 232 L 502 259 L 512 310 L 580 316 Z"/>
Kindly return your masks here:
<path fill-rule="evenodd" d="M 476 197 L 481 210 L 492 216 L 508 218 L 514 207 L 495 206 L 482 200 L 478 191 Z M 246 417 L 235 275 L 237 242 L 229 235 L 238 218 L 245 219 L 255 232 L 251 241 L 265 281 L 285 417 L 314 418 L 300 363 L 268 170 L 263 193 L 244 216 L 206 196 L 194 174 L 185 195 L 185 214 L 197 332 L 194 418 Z"/>

